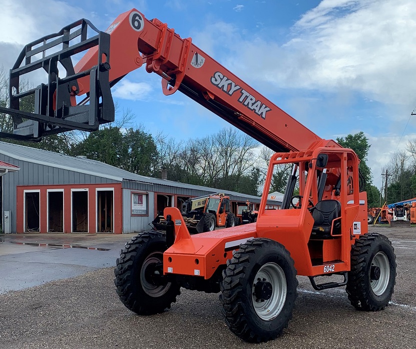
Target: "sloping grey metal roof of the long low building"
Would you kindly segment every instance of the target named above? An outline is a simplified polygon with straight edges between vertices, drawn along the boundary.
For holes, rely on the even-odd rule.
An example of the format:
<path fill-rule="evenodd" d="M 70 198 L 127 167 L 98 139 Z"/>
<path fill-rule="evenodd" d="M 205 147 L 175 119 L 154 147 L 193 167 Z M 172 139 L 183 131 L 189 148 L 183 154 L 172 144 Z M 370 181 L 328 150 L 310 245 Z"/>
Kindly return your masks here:
<path fill-rule="evenodd" d="M 32 148 L 24 145 L 0 141 L 0 153 L 6 156 L 13 157 L 17 160 L 28 161 L 38 163 L 41 165 L 85 173 L 87 175 L 107 178 L 118 182 L 126 180 L 141 183 L 160 184 L 165 186 L 202 190 L 208 192 L 220 191 L 228 195 L 234 195 L 237 197 L 252 198 L 257 200 L 260 199 L 257 196 L 246 195 L 237 192 L 230 192 L 227 190 L 219 190 L 209 187 L 195 186 L 192 184 L 162 180 L 153 177 L 140 176 L 136 175 L 136 173 L 126 171 L 124 169 L 109 165 L 101 161 L 88 159 L 86 157 L 64 155 L 53 151 Z"/>

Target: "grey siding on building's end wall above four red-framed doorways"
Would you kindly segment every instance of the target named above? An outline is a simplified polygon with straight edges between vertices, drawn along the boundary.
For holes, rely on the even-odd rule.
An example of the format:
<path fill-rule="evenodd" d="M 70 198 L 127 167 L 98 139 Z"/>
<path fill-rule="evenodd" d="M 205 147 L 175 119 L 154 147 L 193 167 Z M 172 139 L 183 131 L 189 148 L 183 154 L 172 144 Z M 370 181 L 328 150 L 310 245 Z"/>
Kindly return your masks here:
<path fill-rule="evenodd" d="M 7 173 L 7 175 L 3 176 L 3 211 L 12 211 L 12 232 L 14 233 L 16 232 L 17 186 L 116 183 L 116 181 L 107 178 L 86 176 L 84 173 L 17 160 L 1 153 L 0 161 L 20 167 L 20 171 Z M 4 214 L 2 212 L 2 222 L 3 219 Z"/>

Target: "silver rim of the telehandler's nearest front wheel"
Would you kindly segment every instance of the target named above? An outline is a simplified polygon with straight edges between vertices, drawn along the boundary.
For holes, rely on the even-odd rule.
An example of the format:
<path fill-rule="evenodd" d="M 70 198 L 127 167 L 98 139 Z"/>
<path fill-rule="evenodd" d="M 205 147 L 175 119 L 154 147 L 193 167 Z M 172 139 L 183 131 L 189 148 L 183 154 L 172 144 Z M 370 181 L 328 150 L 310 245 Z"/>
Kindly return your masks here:
<path fill-rule="evenodd" d="M 258 287 L 259 282 L 270 284 L 271 294 L 268 299 L 258 298 L 260 294 L 256 286 Z M 283 269 L 276 263 L 264 264 L 257 272 L 252 287 L 252 301 L 256 314 L 266 321 L 274 319 L 284 306 L 286 294 L 287 283 Z"/>

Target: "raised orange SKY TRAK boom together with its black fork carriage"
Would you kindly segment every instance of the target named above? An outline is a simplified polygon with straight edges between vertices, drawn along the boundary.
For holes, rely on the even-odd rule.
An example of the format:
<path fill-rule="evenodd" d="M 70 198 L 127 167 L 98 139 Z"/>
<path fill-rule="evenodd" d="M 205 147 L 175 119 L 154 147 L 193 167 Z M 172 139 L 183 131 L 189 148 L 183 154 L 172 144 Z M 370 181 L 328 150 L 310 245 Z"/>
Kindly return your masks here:
<path fill-rule="evenodd" d="M 98 33 L 90 39 L 86 36 L 87 24 Z M 76 26 L 81 29 L 71 33 Z M 81 43 L 69 46 L 78 36 L 81 36 Z M 61 51 L 46 54 L 61 43 Z M 108 71 L 110 47 L 112 69 Z M 71 56 L 89 48 L 73 68 Z M 32 62 L 40 53 L 43 57 Z M 58 76 L 58 63 L 67 71 L 65 78 Z M 58 34 L 27 45 L 11 71 L 11 107 L 0 109 L 13 116 L 14 134 L 0 134 L 0 137 L 36 140 L 69 129 L 97 129 L 100 123 L 114 118 L 110 86 L 142 65 L 147 72 L 162 77 L 165 95 L 181 91 L 274 151 L 308 149 L 321 141 L 315 133 L 196 47 L 190 38 L 182 39 L 165 23 L 157 19 L 149 21 L 136 9 L 117 17 L 106 33 L 81 20 Z M 19 77 L 39 68 L 48 72 L 48 84 L 19 93 Z M 19 100 L 29 94 L 35 94 L 34 113 L 19 108 Z M 81 94 L 94 96 L 90 106 L 77 104 L 76 98 Z M 98 105 L 100 98 L 102 103 Z M 33 121 L 23 122 L 24 118 Z M 329 143 L 338 146 L 334 141 Z"/>

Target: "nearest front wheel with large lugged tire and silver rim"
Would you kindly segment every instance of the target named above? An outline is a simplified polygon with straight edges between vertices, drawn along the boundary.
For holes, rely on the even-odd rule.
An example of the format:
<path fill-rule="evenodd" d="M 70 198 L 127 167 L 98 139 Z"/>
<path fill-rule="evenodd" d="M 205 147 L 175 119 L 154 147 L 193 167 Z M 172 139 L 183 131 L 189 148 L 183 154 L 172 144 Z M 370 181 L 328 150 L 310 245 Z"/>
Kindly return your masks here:
<path fill-rule="evenodd" d="M 250 342 L 276 338 L 292 318 L 297 284 L 293 259 L 283 245 L 269 239 L 247 241 L 223 271 L 225 322 Z"/>

